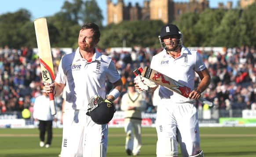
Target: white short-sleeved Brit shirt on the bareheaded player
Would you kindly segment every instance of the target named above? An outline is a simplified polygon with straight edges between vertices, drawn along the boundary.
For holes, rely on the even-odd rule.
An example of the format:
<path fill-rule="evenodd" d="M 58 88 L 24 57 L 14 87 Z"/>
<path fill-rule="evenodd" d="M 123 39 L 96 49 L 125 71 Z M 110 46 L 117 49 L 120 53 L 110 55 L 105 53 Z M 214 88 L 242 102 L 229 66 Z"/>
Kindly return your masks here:
<path fill-rule="evenodd" d="M 63 56 L 55 82 L 66 84 L 64 109 L 87 110 L 91 97 L 100 95 L 105 98 L 106 78 L 114 83 L 120 76 L 111 58 L 96 49 L 89 61 L 81 57 L 79 48 Z"/>

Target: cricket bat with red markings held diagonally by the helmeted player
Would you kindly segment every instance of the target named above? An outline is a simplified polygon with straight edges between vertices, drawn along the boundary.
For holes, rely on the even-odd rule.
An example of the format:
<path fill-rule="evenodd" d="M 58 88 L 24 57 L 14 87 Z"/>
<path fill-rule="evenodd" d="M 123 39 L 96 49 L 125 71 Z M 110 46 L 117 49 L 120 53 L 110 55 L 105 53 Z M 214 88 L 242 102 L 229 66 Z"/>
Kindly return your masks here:
<path fill-rule="evenodd" d="M 137 70 L 134 70 L 133 73 L 135 76 L 142 75 L 143 77 L 154 81 L 156 84 L 160 84 L 161 86 L 172 90 L 186 98 L 188 98 L 191 89 L 181 83 L 179 83 L 176 80 L 173 80 L 170 77 L 165 76 L 162 73 L 157 72 L 156 70 L 151 69 L 150 67 L 145 66 L 144 69 L 140 67 Z M 199 98 L 199 101 L 201 101 L 204 104 L 207 104 L 209 106 L 213 106 L 213 103 L 211 101 L 207 101 L 204 98 Z"/>

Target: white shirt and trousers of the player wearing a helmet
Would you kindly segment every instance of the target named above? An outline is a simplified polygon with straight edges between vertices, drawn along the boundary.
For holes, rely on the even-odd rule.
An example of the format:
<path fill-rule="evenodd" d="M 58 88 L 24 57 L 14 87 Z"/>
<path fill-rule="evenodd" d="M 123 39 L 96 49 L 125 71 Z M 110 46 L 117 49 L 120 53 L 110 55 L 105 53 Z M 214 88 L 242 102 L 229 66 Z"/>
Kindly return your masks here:
<path fill-rule="evenodd" d="M 200 54 L 184 46 L 176 59 L 169 56 L 164 49 L 153 56 L 150 67 L 190 87 L 191 91 L 194 89 L 194 72 L 206 68 Z M 156 119 L 157 157 L 178 155 L 176 137 L 183 157 L 196 155 L 200 150 L 200 137 L 197 110 L 193 103 L 162 86 L 159 87 L 159 97 L 161 100 L 157 104 Z M 164 145 L 168 149 L 163 149 Z"/>

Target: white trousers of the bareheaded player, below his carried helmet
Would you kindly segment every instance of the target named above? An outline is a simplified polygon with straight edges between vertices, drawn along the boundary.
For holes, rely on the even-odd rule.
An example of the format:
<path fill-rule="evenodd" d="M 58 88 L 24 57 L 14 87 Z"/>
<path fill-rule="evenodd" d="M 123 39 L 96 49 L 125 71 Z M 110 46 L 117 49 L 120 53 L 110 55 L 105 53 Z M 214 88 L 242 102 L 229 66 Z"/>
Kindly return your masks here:
<path fill-rule="evenodd" d="M 106 157 L 108 125 L 98 125 L 84 110 L 65 110 L 61 157 Z"/>

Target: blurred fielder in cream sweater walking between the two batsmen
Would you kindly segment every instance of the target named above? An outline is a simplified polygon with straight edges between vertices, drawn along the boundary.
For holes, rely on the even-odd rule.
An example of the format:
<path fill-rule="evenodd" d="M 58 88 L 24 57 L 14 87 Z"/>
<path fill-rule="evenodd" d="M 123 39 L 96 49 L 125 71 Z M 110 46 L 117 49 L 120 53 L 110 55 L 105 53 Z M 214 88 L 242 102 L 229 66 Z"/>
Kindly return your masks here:
<path fill-rule="evenodd" d="M 128 155 L 138 155 L 141 148 L 141 112 L 146 109 L 142 92 L 135 90 L 134 83 L 128 82 L 128 91 L 121 99 L 124 111 L 125 150 Z"/>

